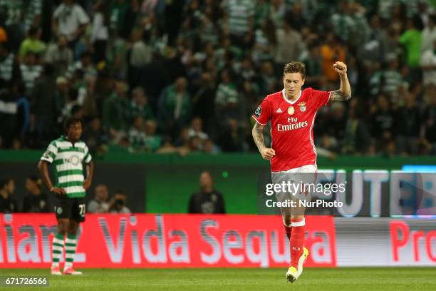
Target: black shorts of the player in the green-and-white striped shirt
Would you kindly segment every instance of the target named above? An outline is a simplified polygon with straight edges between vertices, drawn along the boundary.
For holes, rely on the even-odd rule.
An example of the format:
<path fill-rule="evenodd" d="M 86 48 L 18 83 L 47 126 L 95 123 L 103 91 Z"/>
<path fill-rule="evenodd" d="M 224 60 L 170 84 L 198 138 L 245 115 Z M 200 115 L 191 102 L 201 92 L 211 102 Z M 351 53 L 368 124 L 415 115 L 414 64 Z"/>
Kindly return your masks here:
<path fill-rule="evenodd" d="M 66 195 L 55 194 L 56 219 L 66 218 L 78 223 L 85 221 L 85 198 L 68 198 Z"/>

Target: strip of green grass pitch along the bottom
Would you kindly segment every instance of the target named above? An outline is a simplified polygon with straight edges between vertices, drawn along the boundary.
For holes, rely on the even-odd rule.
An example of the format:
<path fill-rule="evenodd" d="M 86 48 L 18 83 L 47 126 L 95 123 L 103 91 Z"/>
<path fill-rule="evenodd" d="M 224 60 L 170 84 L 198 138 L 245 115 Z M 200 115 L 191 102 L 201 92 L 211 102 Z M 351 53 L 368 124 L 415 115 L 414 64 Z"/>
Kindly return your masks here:
<path fill-rule="evenodd" d="M 82 269 L 83 275 L 51 276 L 49 287 L 1 290 L 436 290 L 434 267 L 307 268 L 294 283 L 286 268 Z M 4 276 L 44 276 L 48 270 L 0 269 Z"/>

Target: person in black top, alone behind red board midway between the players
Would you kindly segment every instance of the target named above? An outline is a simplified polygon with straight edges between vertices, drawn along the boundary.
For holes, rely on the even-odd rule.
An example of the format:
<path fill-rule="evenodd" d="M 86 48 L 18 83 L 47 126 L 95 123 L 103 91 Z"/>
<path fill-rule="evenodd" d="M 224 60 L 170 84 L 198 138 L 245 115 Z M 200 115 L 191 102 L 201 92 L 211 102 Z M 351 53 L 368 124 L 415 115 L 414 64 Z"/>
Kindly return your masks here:
<path fill-rule="evenodd" d="M 199 192 L 192 193 L 188 213 L 224 214 L 226 208 L 222 193 L 214 189 L 212 174 L 205 171 L 199 177 Z"/>

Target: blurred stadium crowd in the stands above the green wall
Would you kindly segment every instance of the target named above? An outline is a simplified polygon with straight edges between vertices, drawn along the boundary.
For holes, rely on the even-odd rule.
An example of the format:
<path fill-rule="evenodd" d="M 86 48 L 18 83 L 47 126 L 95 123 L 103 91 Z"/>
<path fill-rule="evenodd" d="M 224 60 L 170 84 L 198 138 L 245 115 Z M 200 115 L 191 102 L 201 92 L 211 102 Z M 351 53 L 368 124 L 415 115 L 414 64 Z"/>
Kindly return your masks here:
<path fill-rule="evenodd" d="M 282 68 L 353 98 L 318 113 L 320 153 L 436 153 L 434 0 L 0 0 L 0 148 L 44 148 L 68 116 L 94 154 L 256 151 Z M 298 142 L 298 141 L 297 141 Z"/>

